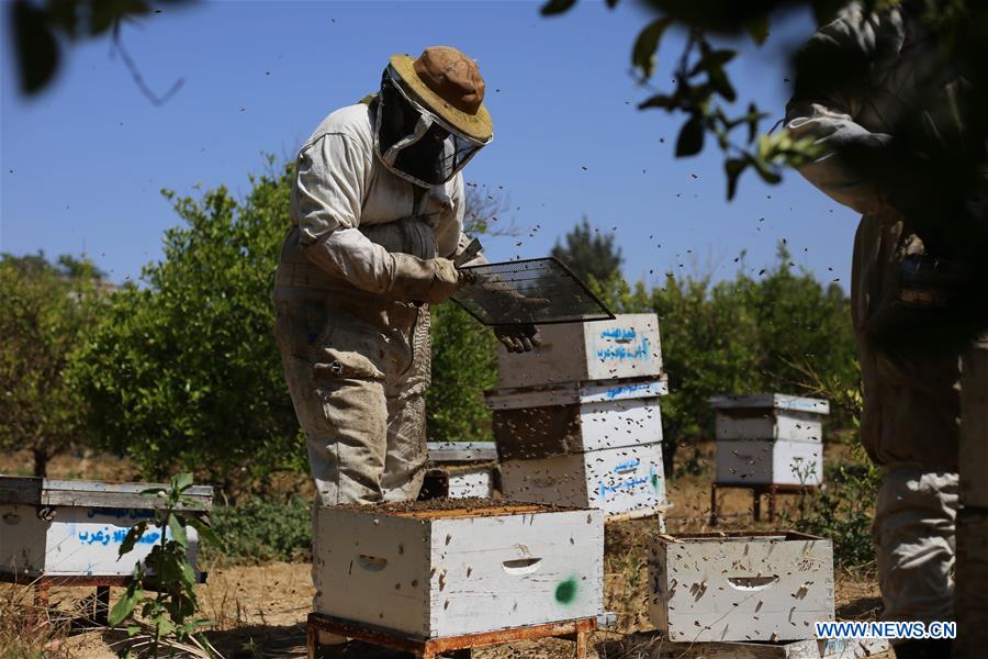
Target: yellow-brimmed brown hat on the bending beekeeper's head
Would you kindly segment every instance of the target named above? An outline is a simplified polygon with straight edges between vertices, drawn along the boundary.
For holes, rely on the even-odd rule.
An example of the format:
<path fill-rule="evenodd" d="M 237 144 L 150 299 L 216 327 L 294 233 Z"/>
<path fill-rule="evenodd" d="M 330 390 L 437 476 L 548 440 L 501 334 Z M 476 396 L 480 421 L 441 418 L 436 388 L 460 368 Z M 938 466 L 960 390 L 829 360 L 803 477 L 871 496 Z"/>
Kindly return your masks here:
<path fill-rule="evenodd" d="M 416 58 L 394 55 L 391 66 L 403 87 L 439 119 L 482 143 L 494 135 L 484 107 L 484 79 L 476 63 L 457 48 L 430 46 Z"/>

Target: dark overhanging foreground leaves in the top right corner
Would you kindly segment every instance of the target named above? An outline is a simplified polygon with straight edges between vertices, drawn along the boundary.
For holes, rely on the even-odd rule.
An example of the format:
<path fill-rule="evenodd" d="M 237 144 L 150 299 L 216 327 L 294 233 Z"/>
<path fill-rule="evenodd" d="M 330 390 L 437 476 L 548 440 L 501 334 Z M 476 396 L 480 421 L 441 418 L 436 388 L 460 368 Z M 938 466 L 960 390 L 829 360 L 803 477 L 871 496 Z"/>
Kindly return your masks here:
<path fill-rule="evenodd" d="M 542 5 L 543 15 L 559 15 L 569 11 L 576 0 L 549 0 Z M 877 12 L 889 7 L 903 4 L 903 0 L 863 0 L 864 11 Z M 985 67 L 988 60 L 988 7 L 984 2 L 968 0 L 910 0 L 912 10 L 918 12 L 922 23 L 930 31 L 946 60 L 963 70 L 967 82 L 967 108 L 965 112 L 968 144 L 981 144 L 988 136 L 988 77 Z M 614 8 L 618 0 L 608 0 Z M 732 199 L 738 180 L 749 169 L 754 170 L 765 182 L 782 180 L 787 166 L 798 167 L 820 155 L 812 137 L 793 138 L 787 131 L 761 134 L 761 122 L 768 116 L 757 103 L 741 103 L 743 110 L 736 109 L 739 94 L 727 70 L 742 51 L 739 38 L 750 38 L 761 47 L 773 30 L 797 14 L 797 9 L 812 11 L 818 23 L 831 21 L 847 0 L 647 0 L 643 3 L 651 20 L 641 29 L 631 47 L 631 66 L 642 87 L 650 86 L 655 72 L 656 58 L 669 54 L 675 62 L 672 88 L 663 88 L 658 93 L 639 103 L 640 110 L 661 109 L 683 118 L 676 139 L 676 157 L 688 157 L 703 150 L 707 138 L 715 141 L 722 152 L 725 174 L 728 183 L 728 199 Z M 686 34 L 683 49 L 670 53 L 662 48 L 662 37 L 671 30 Z M 850 77 L 832 53 L 823 57 L 807 57 L 798 45 L 787 46 L 785 53 L 795 69 L 795 78 L 812 81 L 820 86 L 828 80 L 846 83 Z M 861 63 L 855 63 L 855 66 Z M 841 80 L 843 78 L 843 80 Z M 974 91 L 970 91 L 974 90 Z M 932 87 L 925 90 L 930 98 L 940 94 Z M 917 104 L 914 115 L 921 115 Z M 901 113 L 901 121 L 910 121 L 908 113 Z M 896 127 L 887 131 L 894 135 L 901 132 Z M 903 153 L 925 152 L 927 144 L 910 144 L 906 148 L 896 145 Z M 935 149 L 934 149 L 935 150 Z M 978 149 L 954 149 L 940 154 L 932 171 L 942 166 L 953 170 L 963 169 L 962 178 L 984 166 L 984 153 Z M 958 156 L 964 155 L 964 158 Z M 973 155 L 973 158 L 972 158 Z M 958 161 L 963 160 L 958 165 Z M 956 176 L 954 176 L 956 178 Z"/>

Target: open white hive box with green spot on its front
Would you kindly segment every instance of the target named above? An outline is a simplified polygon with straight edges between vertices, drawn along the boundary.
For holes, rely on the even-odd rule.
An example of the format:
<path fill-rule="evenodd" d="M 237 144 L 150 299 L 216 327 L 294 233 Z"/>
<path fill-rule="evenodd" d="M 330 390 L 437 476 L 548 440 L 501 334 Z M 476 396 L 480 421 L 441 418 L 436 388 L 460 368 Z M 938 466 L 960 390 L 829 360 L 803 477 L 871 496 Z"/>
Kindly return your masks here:
<path fill-rule="evenodd" d="M 425 503 L 318 509 L 316 613 L 423 638 L 603 613 L 599 511 Z"/>

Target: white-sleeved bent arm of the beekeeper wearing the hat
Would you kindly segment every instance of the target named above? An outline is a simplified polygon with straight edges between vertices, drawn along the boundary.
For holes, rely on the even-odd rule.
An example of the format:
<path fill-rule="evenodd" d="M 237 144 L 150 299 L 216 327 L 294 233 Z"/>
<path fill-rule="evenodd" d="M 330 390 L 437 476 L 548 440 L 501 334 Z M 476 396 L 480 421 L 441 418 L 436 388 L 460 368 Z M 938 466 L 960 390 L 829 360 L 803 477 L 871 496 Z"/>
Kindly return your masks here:
<path fill-rule="evenodd" d="M 329 133 L 302 148 L 293 213 L 303 254 L 329 275 L 374 294 L 441 302 L 459 288 L 452 261 L 390 253 L 360 231 L 373 154 Z"/>

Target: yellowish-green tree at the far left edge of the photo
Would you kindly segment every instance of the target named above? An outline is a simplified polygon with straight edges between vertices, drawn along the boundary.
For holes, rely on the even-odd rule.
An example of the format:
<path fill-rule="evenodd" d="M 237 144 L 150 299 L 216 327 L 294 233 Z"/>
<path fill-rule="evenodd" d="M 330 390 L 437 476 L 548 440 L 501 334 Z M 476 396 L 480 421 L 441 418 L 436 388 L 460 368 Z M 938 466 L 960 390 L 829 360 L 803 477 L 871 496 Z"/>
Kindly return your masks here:
<path fill-rule="evenodd" d="M 35 476 L 82 438 L 82 401 L 64 376 L 99 313 L 101 277 L 70 256 L 0 256 L 0 448 L 30 450 Z"/>

